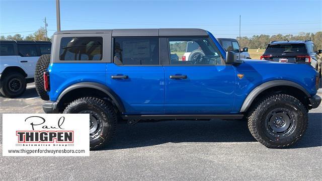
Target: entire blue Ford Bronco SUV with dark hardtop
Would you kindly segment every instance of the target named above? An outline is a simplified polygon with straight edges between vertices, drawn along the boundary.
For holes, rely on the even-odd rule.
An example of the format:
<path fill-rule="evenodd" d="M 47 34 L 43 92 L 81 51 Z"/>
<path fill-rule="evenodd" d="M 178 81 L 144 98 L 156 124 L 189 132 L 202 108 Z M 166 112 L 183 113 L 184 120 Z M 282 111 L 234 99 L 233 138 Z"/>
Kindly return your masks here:
<path fill-rule="evenodd" d="M 199 46 L 189 60 L 188 42 Z M 236 59 L 201 29 L 60 31 L 36 66 L 46 113 L 90 114 L 90 148 L 117 122 L 246 119 L 269 148 L 295 143 L 317 108 L 318 73 L 308 64 Z"/>

